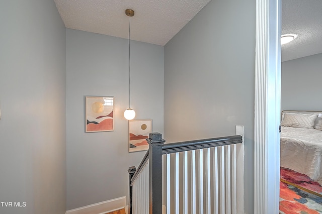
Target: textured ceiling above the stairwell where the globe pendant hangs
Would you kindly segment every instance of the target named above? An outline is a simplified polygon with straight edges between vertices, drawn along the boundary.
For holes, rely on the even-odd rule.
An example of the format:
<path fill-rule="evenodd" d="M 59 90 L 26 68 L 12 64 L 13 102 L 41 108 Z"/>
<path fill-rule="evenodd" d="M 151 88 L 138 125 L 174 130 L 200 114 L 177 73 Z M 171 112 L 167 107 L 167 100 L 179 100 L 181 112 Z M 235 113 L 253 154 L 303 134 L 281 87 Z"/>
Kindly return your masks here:
<path fill-rule="evenodd" d="M 66 28 L 166 45 L 210 0 L 54 0 Z"/>

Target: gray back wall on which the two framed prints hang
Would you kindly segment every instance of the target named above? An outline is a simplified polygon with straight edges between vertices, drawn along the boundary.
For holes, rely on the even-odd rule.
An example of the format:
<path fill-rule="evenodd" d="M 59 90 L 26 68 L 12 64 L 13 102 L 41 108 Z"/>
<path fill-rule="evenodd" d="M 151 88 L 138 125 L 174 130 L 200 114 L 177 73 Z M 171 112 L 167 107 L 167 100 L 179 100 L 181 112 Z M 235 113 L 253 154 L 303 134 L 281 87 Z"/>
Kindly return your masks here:
<path fill-rule="evenodd" d="M 67 210 L 128 195 L 128 40 L 66 29 Z M 131 41 L 131 108 L 163 133 L 164 47 Z M 85 133 L 85 96 L 114 96 L 114 131 Z"/>

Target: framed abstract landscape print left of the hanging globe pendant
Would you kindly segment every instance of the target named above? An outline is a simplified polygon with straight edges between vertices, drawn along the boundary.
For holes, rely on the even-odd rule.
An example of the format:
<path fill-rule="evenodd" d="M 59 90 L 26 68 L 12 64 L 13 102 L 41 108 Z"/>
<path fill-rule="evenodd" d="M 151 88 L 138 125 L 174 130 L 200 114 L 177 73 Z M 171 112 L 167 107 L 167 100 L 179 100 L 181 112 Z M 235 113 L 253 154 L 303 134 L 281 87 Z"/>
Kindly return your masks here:
<path fill-rule="evenodd" d="M 113 96 L 86 96 L 85 132 L 113 131 Z"/>

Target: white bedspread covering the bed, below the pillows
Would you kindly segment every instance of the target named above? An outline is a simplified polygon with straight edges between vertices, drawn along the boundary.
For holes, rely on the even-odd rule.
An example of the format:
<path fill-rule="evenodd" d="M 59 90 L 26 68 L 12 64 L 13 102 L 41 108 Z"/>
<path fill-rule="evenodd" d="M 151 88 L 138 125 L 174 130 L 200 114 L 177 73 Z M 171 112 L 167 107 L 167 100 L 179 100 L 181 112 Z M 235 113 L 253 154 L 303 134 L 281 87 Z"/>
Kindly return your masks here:
<path fill-rule="evenodd" d="M 322 131 L 281 127 L 281 166 L 322 184 Z"/>

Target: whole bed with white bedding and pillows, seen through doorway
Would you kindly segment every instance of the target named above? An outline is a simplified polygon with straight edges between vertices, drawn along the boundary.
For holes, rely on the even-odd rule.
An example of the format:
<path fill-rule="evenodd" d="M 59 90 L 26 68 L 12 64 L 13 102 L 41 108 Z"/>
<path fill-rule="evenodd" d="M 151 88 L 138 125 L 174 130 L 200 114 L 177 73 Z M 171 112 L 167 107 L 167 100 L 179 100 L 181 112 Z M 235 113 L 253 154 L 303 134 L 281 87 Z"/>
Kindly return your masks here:
<path fill-rule="evenodd" d="M 322 112 L 283 111 L 281 166 L 322 184 Z"/>

